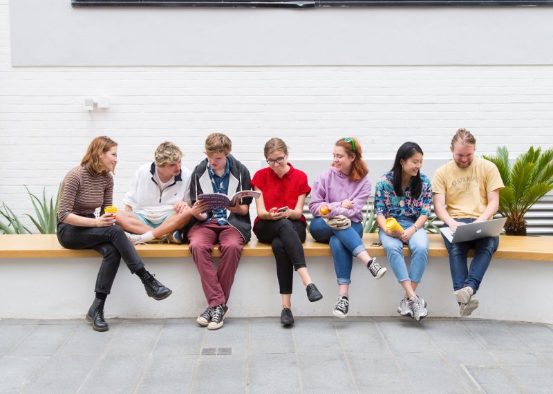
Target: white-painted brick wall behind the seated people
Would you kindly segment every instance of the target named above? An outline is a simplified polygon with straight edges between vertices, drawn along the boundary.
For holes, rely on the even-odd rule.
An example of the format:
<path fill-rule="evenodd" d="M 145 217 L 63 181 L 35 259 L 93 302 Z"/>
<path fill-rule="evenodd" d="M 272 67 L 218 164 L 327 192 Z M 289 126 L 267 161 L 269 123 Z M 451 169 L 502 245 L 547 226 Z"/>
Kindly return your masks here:
<path fill-rule="evenodd" d="M 232 138 L 252 173 L 273 136 L 288 142 L 291 160 L 330 158 L 344 135 L 359 137 L 369 160 L 393 160 L 406 140 L 445 158 L 461 126 L 478 154 L 553 146 L 552 64 L 19 68 L 8 12 L 0 0 L 0 201 L 19 216 L 32 212 L 23 185 L 53 193 L 96 135 L 120 144 L 118 204 L 162 140 L 179 144 L 191 168 L 214 131 Z M 85 97 L 109 97 L 110 107 L 89 115 Z"/>

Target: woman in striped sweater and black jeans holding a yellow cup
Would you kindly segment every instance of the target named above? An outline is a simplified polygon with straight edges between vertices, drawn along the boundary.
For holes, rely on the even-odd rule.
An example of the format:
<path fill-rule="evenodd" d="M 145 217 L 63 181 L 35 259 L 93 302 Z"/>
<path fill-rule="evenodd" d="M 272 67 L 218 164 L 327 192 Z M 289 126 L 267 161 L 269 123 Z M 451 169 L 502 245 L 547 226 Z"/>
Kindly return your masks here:
<path fill-rule="evenodd" d="M 65 176 L 57 209 L 57 239 L 68 249 L 93 249 L 104 258 L 96 278 L 96 297 L 86 314 L 96 331 L 109 329 L 104 320 L 104 303 L 121 258 L 140 277 L 149 297 L 161 300 L 171 295 L 145 268 L 132 243 L 115 218 L 104 209 L 113 202 L 113 176 L 117 164 L 117 143 L 96 137 L 81 164 Z M 95 212 L 100 211 L 100 214 Z"/>

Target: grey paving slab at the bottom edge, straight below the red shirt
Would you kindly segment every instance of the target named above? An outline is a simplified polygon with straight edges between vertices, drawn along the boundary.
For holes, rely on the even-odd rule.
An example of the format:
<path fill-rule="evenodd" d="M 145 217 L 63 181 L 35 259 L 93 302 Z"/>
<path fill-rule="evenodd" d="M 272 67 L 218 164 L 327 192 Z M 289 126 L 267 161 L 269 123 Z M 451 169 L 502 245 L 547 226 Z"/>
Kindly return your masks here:
<path fill-rule="evenodd" d="M 247 391 L 251 394 L 301 392 L 297 357 L 292 353 L 250 355 L 247 377 Z"/>

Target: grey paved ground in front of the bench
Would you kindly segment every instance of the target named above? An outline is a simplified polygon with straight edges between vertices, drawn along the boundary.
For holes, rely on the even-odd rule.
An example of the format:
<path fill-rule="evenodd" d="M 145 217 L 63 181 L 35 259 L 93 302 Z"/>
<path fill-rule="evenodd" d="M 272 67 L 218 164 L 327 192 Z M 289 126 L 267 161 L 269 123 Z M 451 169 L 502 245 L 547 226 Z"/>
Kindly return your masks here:
<path fill-rule="evenodd" d="M 296 320 L 3 320 L 0 393 L 553 392 L 553 326 Z"/>

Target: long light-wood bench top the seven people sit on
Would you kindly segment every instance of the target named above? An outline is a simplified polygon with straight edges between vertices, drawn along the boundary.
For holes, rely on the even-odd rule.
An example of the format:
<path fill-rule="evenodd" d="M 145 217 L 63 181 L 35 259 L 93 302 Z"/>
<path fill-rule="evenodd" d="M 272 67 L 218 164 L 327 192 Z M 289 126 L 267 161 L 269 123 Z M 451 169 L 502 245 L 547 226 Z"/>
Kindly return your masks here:
<path fill-rule="evenodd" d="M 430 257 L 447 257 L 442 236 L 429 234 Z M 381 246 L 371 246 L 378 242 L 377 234 L 364 234 L 363 241 L 371 256 L 386 256 Z M 136 250 L 141 257 L 190 257 L 188 245 L 160 244 L 156 242 L 147 245 L 137 245 Z M 331 256 L 328 244 L 313 241 L 308 234 L 303 245 L 306 256 Z M 404 255 L 411 253 L 404 247 Z M 221 252 L 216 246 L 214 256 Z M 59 245 L 55 234 L 0 235 L 0 259 L 70 259 L 79 257 L 98 257 L 94 250 L 71 250 Z M 260 243 L 256 238 L 245 245 L 243 256 L 273 256 L 271 245 Z M 498 251 L 494 259 L 553 261 L 553 238 L 535 236 L 500 236 Z"/>

